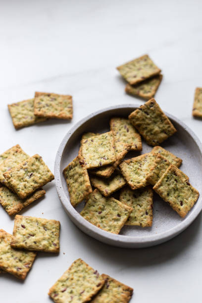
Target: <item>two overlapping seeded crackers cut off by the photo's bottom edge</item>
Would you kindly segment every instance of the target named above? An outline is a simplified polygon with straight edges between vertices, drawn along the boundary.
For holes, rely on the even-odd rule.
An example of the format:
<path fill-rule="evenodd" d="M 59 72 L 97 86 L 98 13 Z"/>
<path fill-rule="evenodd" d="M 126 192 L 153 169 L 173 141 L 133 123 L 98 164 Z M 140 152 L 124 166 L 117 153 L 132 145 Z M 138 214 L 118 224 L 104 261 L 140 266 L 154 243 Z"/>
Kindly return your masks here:
<path fill-rule="evenodd" d="M 82 259 L 75 260 L 49 290 L 55 303 L 128 303 L 132 294 L 131 287 L 100 275 Z"/>

